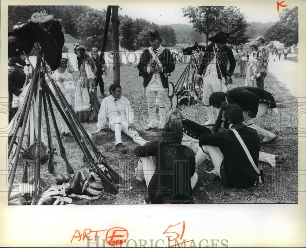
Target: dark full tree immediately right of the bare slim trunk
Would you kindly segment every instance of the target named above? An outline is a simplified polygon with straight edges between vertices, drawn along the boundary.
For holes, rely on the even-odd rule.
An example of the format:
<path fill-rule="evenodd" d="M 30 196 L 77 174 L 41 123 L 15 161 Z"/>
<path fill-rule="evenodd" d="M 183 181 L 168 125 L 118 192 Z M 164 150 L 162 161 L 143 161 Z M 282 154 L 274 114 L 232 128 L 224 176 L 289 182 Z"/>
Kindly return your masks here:
<path fill-rule="evenodd" d="M 125 16 L 120 21 L 120 46 L 129 50 L 136 50 L 136 31 L 134 21 L 131 17 Z"/>

